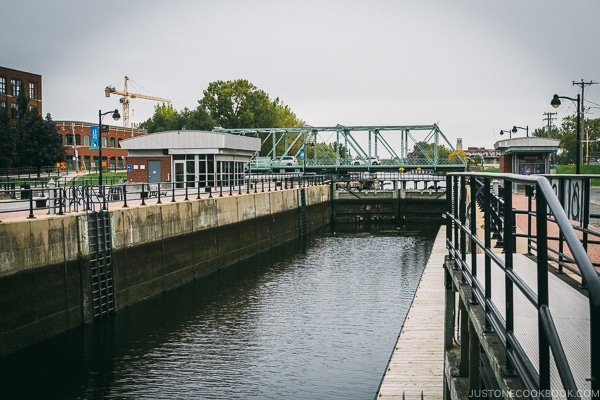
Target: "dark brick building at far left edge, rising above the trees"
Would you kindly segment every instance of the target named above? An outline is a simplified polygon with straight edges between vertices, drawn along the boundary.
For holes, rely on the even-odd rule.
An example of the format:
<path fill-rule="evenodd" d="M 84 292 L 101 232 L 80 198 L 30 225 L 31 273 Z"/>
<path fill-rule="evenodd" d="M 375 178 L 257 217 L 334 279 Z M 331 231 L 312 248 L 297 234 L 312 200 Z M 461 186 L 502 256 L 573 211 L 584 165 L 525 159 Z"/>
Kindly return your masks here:
<path fill-rule="evenodd" d="M 0 109 L 12 120 L 19 116 L 19 94 L 29 98 L 29 107 L 35 107 L 42 115 L 42 76 L 16 69 L 0 67 Z"/>

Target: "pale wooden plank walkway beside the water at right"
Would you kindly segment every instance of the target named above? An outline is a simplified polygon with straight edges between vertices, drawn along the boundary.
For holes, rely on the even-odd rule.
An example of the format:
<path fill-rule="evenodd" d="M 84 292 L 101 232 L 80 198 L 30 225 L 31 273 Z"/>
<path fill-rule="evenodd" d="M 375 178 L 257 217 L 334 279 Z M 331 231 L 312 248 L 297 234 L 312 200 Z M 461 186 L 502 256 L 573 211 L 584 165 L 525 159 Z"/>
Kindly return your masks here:
<path fill-rule="evenodd" d="M 443 398 L 445 229 L 435 239 L 376 399 Z"/>

